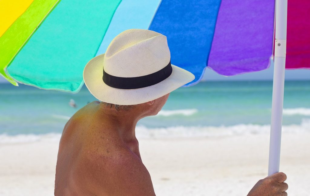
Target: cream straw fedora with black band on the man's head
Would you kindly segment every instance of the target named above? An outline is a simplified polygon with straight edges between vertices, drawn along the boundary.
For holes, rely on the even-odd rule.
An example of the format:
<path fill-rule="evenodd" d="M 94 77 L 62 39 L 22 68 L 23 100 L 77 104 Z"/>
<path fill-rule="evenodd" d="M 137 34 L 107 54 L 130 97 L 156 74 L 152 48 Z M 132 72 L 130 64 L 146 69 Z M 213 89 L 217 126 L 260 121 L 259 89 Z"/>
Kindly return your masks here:
<path fill-rule="evenodd" d="M 105 54 L 86 64 L 83 78 L 98 100 L 135 105 L 164 96 L 195 76 L 171 65 L 166 36 L 151 30 L 128 29 L 112 40 Z"/>

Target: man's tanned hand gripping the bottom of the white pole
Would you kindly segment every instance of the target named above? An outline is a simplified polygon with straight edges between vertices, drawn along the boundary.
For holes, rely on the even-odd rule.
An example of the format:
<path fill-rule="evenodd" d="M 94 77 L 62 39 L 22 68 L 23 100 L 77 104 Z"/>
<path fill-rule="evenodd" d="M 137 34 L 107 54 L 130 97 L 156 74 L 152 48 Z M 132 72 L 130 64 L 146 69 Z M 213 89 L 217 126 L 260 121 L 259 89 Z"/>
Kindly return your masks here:
<path fill-rule="evenodd" d="M 247 196 L 287 196 L 286 175 L 278 172 L 259 180 Z"/>

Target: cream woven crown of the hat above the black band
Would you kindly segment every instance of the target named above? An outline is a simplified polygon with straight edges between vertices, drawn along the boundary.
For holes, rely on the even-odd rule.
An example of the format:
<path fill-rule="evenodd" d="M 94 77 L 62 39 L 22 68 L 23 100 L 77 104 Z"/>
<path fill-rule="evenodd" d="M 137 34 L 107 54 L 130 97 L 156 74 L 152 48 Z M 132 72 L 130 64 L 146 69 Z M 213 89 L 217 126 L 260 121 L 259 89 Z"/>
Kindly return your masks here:
<path fill-rule="evenodd" d="M 128 29 L 118 34 L 104 54 L 104 71 L 124 78 L 145 76 L 170 62 L 166 36 L 146 29 Z"/>

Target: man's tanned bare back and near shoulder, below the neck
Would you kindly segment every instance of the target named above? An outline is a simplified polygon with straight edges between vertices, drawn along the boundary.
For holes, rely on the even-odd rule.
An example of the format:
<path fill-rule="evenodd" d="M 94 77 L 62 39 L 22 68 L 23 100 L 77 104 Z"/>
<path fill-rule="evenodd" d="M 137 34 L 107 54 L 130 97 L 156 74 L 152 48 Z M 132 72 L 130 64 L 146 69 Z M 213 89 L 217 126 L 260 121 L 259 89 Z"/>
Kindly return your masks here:
<path fill-rule="evenodd" d="M 80 109 L 60 140 L 55 195 L 155 195 L 138 141 L 101 115 L 99 102 Z"/>

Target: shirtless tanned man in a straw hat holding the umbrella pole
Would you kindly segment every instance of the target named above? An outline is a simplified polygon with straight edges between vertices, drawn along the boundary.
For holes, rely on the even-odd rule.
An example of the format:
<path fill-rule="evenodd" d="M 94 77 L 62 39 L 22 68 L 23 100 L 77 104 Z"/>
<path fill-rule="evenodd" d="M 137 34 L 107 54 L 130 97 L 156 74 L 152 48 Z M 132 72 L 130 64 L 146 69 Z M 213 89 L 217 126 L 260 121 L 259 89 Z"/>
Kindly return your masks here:
<path fill-rule="evenodd" d="M 80 109 L 64 127 L 55 195 L 155 195 L 135 126 L 156 115 L 169 93 L 192 81 L 193 74 L 171 65 L 166 36 L 129 29 L 87 63 L 83 77 L 101 102 Z M 284 173 L 259 180 L 248 196 L 287 195 L 285 180 Z"/>

